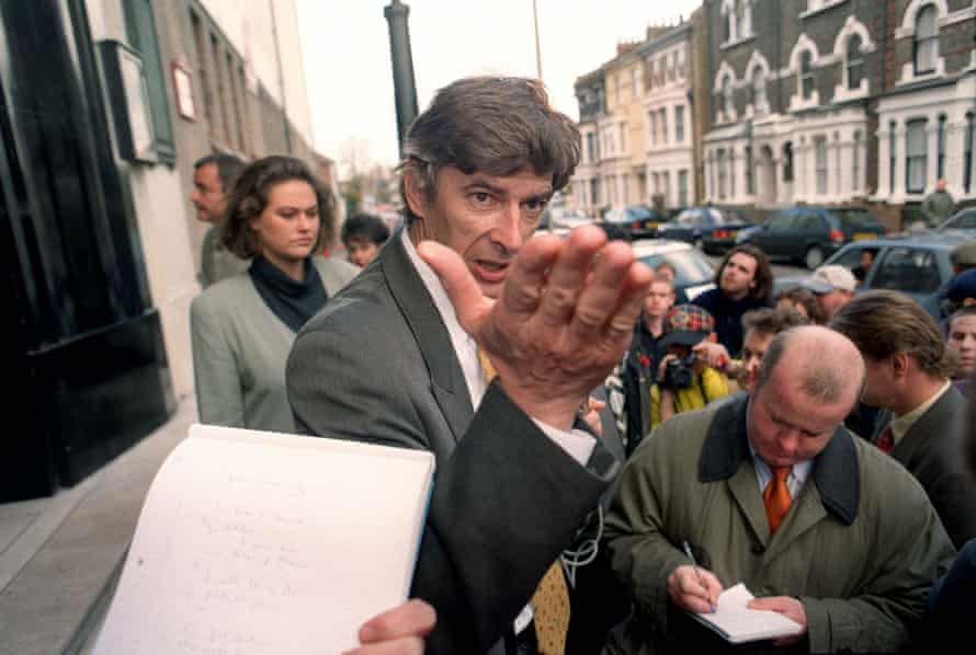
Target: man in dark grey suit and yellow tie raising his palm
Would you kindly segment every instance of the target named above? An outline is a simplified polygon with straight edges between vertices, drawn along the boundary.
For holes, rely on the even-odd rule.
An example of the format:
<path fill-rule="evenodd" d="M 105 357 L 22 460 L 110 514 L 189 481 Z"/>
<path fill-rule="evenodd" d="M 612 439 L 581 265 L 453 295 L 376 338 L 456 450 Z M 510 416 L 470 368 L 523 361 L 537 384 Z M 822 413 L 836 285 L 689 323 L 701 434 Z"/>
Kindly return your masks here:
<path fill-rule="evenodd" d="M 580 153 L 537 80 L 449 84 L 402 152 L 407 227 L 303 328 L 288 400 L 304 433 L 435 455 L 411 587 L 429 653 L 561 652 L 593 616 L 567 616 L 557 560 L 617 470 L 578 413 L 652 274 L 598 227 L 532 237 Z"/>

